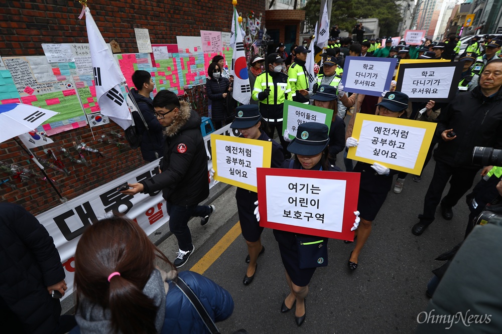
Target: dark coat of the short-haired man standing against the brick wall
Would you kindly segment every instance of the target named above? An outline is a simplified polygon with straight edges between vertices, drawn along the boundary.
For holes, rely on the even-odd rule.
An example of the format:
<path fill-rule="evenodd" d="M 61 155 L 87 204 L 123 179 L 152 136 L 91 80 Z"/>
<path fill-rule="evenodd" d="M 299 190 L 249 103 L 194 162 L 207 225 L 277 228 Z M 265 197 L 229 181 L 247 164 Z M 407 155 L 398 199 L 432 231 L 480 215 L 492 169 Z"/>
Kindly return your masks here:
<path fill-rule="evenodd" d="M 154 161 L 164 155 L 164 135 L 162 134 L 164 127 L 155 116 L 151 98 L 140 95 L 135 88 L 131 89 L 131 95 L 138 104 L 138 108 L 140 108 L 141 114 L 148 125 L 148 131 L 146 131 L 145 124 L 141 117 L 133 113 L 134 123 L 138 127 L 140 133 L 143 134 L 141 139 L 141 154 L 144 160 Z M 157 153 L 158 156 L 155 156 L 155 153 Z"/>

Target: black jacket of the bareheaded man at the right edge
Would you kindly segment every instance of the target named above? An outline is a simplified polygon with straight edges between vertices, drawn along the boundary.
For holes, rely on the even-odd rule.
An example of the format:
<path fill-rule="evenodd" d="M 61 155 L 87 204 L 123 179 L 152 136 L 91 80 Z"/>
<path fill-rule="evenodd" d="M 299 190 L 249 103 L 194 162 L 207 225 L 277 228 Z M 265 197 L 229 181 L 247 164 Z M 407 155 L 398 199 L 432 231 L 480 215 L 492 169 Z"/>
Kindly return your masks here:
<path fill-rule="evenodd" d="M 490 98 L 479 86 L 455 96 L 438 117 L 436 136 L 447 129 L 457 137 L 439 139 L 434 158 L 453 167 L 479 169 L 472 164 L 474 146 L 502 148 L 502 88 Z"/>

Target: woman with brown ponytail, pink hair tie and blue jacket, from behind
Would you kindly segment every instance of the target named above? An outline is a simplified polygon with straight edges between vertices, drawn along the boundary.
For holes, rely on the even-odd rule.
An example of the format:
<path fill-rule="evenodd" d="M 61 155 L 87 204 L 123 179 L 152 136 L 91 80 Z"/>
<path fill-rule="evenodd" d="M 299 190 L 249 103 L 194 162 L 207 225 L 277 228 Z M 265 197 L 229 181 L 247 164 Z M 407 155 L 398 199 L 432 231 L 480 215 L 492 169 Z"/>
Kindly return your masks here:
<path fill-rule="evenodd" d="M 156 259 L 166 271 L 156 267 Z M 117 216 L 94 223 L 75 252 L 78 326 L 71 333 L 207 332 L 196 309 L 173 283 L 180 278 L 213 321 L 230 316 L 230 294 L 197 273 L 177 273 L 137 223 Z"/>

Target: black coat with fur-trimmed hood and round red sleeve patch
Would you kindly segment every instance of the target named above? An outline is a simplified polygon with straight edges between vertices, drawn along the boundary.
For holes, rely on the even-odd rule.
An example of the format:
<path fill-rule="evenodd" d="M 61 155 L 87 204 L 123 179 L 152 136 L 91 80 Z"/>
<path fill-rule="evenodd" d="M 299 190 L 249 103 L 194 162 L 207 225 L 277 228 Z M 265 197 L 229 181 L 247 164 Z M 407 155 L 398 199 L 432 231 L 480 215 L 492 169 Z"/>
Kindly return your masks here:
<path fill-rule="evenodd" d="M 141 182 L 143 193 L 162 190 L 167 202 L 183 206 L 197 205 L 209 196 L 207 154 L 200 124 L 197 112 L 182 101 L 173 123 L 164 130 L 162 173 Z"/>

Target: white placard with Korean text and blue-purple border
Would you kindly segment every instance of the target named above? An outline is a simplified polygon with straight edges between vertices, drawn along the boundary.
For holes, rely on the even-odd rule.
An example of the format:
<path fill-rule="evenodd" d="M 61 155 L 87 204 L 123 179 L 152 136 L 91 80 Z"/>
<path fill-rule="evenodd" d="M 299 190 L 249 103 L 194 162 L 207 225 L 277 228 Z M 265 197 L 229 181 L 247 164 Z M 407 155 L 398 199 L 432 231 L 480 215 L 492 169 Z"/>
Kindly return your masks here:
<path fill-rule="evenodd" d="M 346 92 L 380 96 L 390 87 L 397 59 L 346 57 L 341 83 Z"/>

